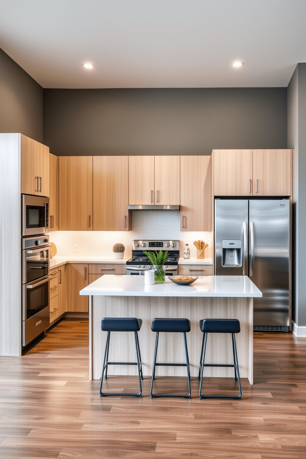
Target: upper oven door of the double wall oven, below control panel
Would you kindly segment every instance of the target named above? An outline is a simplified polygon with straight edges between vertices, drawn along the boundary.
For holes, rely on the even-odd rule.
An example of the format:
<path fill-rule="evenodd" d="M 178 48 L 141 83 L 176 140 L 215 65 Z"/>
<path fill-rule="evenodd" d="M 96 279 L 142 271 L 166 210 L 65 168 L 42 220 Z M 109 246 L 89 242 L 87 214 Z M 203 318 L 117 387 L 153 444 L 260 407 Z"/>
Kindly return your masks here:
<path fill-rule="evenodd" d="M 45 277 L 49 267 L 50 246 L 22 250 L 22 284 Z"/>

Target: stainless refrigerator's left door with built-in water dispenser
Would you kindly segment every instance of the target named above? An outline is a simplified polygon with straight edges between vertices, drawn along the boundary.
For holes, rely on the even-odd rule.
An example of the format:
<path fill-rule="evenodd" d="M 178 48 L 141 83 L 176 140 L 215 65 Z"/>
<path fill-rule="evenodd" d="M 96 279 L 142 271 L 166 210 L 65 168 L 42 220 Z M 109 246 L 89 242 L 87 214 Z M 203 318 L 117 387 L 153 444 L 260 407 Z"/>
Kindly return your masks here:
<path fill-rule="evenodd" d="M 248 275 L 247 199 L 215 199 L 215 275 Z"/>

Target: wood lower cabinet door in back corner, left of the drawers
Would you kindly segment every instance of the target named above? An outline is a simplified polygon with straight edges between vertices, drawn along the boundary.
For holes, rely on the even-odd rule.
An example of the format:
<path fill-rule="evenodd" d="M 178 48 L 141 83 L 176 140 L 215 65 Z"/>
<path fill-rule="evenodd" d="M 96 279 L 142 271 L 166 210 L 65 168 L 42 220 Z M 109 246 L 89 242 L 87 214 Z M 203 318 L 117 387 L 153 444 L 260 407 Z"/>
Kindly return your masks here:
<path fill-rule="evenodd" d="M 79 291 L 88 285 L 88 263 L 68 263 L 68 311 L 88 313 L 88 296 Z"/>

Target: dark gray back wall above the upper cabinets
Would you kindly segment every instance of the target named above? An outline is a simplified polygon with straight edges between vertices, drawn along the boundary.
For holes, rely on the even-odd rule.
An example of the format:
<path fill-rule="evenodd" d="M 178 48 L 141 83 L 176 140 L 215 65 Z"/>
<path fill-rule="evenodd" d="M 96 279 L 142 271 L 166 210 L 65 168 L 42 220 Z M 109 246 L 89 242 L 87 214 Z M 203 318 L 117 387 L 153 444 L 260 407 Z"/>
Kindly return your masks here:
<path fill-rule="evenodd" d="M 44 89 L 44 144 L 59 156 L 287 148 L 287 89 Z"/>

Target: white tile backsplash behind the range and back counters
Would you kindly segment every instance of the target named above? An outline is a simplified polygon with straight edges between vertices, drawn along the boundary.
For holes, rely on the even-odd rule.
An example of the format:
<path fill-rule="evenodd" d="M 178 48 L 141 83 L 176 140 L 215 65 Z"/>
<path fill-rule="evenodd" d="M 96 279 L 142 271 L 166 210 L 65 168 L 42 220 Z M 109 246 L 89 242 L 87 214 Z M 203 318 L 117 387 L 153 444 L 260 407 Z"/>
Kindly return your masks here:
<path fill-rule="evenodd" d="M 134 239 L 179 240 L 180 256 L 183 257 L 185 244 L 189 244 L 191 257 L 196 257 L 193 241 L 208 243 L 205 257 L 211 258 L 211 232 L 180 231 L 179 211 L 133 210 L 132 231 L 52 231 L 50 241 L 57 248 L 57 256 L 75 257 L 111 257 L 112 247 L 116 242 L 125 246 L 125 257 L 132 255 Z M 78 252 L 73 252 L 73 246 Z"/>

